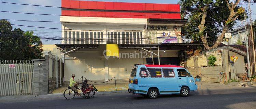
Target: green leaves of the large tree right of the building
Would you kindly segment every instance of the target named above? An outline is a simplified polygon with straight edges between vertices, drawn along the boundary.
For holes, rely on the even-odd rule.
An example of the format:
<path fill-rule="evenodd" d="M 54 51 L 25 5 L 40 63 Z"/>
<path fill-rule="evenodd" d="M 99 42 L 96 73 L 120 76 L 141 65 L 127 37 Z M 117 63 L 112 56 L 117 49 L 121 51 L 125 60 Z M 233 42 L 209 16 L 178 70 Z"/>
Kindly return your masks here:
<path fill-rule="evenodd" d="M 243 0 L 246 2 L 246 0 Z M 229 1 L 233 4 L 234 1 Z M 231 3 L 233 2 L 233 3 Z M 188 19 L 185 26 L 182 27 L 182 34 L 186 38 L 191 38 L 195 42 L 202 42 L 200 37 L 210 36 L 207 39 L 208 44 L 211 46 L 216 41 L 217 36 L 222 32 L 225 24 L 228 24 L 228 30 L 232 30 L 237 21 L 244 19 L 246 13 L 241 5 L 235 8 L 237 12 L 237 19 L 227 20 L 229 17 L 229 7 L 225 0 L 180 0 L 181 18 Z M 207 6 L 207 15 L 205 18 L 204 31 L 199 32 L 199 25 L 202 21 L 204 7 Z M 227 20 L 227 21 L 226 21 Z"/>

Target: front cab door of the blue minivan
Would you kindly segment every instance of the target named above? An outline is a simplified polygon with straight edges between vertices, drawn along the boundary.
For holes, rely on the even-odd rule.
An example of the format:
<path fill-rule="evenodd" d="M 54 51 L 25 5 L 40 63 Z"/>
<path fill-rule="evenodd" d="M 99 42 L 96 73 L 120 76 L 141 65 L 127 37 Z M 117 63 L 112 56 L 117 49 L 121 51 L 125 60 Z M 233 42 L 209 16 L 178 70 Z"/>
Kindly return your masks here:
<path fill-rule="evenodd" d="M 180 84 L 179 87 L 181 88 L 181 86 L 188 86 L 190 90 L 194 90 L 194 79 L 190 76 L 188 71 L 186 69 L 177 68 L 177 72 L 179 78 L 178 83 Z"/>

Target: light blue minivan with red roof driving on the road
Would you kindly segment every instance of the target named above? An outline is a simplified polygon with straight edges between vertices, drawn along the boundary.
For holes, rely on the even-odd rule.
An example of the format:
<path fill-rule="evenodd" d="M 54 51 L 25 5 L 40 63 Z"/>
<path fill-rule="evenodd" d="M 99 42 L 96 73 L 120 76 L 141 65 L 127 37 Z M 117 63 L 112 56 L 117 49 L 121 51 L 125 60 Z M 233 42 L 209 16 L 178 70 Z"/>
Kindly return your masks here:
<path fill-rule="evenodd" d="M 181 66 L 135 64 L 131 71 L 128 92 L 157 98 L 164 94 L 188 96 L 190 91 L 196 90 L 194 78 Z"/>

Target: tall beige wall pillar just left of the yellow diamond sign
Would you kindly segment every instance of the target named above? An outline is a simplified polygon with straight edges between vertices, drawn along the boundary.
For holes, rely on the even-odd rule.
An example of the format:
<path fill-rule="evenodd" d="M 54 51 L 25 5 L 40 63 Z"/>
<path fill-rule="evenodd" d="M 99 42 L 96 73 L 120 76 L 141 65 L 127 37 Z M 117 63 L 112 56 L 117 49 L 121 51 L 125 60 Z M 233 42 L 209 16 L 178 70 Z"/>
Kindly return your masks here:
<path fill-rule="evenodd" d="M 221 49 L 221 58 L 222 58 L 223 73 L 226 73 L 227 80 L 229 80 L 228 49 Z"/>

